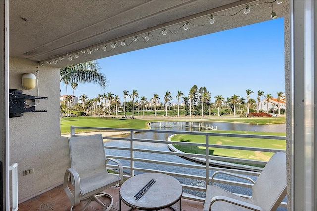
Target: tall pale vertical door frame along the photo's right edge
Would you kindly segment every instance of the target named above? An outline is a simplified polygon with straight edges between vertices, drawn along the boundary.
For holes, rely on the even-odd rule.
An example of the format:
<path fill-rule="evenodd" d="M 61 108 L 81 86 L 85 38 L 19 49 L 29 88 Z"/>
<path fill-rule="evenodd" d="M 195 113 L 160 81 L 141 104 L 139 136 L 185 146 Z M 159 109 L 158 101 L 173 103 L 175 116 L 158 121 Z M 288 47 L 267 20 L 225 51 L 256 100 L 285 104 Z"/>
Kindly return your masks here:
<path fill-rule="evenodd" d="M 314 12 L 315 10 L 315 12 Z M 291 208 L 317 210 L 316 22 L 317 2 L 291 0 Z M 315 35 L 315 36 L 314 36 Z M 316 83 L 315 83 L 316 82 Z M 317 136 L 316 136 L 317 137 Z M 317 143 L 317 142 L 316 142 Z"/>

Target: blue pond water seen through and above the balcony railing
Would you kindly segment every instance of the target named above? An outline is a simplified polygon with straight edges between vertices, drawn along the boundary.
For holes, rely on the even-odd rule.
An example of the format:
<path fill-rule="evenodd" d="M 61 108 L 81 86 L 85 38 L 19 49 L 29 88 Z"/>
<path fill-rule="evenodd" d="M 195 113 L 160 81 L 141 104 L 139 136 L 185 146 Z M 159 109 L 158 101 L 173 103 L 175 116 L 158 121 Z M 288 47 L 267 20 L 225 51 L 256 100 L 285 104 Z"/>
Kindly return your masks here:
<path fill-rule="evenodd" d="M 195 124 L 202 124 L 209 125 L 211 124 L 213 127 L 217 126 L 218 130 L 243 130 L 243 131 L 269 131 L 269 132 L 281 132 L 286 131 L 285 124 L 276 124 L 276 125 L 250 125 L 250 124 L 237 124 L 237 123 L 223 123 L 223 122 L 195 122 Z M 157 123 L 156 123 L 157 124 Z M 172 130 L 172 131 L 193 131 L 193 128 L 170 128 L 170 127 L 159 127 L 159 125 L 152 124 L 152 129 L 161 129 L 161 130 Z M 183 124 L 190 124 L 189 122 L 183 122 Z M 193 124 L 193 123 L 192 123 Z M 197 129 L 196 129 L 197 130 Z M 153 140 L 167 140 L 170 136 L 168 133 L 136 133 L 135 138 L 140 139 L 153 139 Z M 120 140 L 108 140 L 105 143 L 106 146 L 114 146 L 114 147 L 130 147 L 130 142 L 128 141 L 120 141 Z M 159 151 L 170 151 L 166 144 L 156 144 L 156 143 L 142 143 L 142 142 L 135 142 L 135 148 L 140 149 L 153 149 Z M 117 150 L 117 149 L 106 149 L 106 155 L 116 155 L 116 156 L 130 156 L 130 152 L 126 150 Z M 152 159 L 152 160 L 160 160 L 160 161 L 167 161 L 167 162 L 177 162 L 177 163 L 184 163 L 184 164 L 192 164 L 193 162 L 175 155 L 163 155 L 157 153 L 146 153 L 146 152 L 135 152 L 134 157 L 142 158 L 142 159 Z M 120 160 L 123 166 L 130 166 L 130 161 L 128 160 Z M 135 162 L 135 167 L 139 168 L 146 168 L 146 169 L 154 169 L 154 170 L 162 170 L 162 171 L 169 171 L 175 172 L 179 174 L 192 174 L 192 175 L 199 175 L 205 176 L 205 169 L 193 169 L 193 168 L 185 168 L 185 167 L 177 167 L 177 166 L 170 166 L 170 165 L 161 165 L 161 164 L 153 164 L 153 163 L 146 163 L 146 162 Z M 198 164 L 201 165 L 201 164 Z M 125 169 L 125 172 L 129 173 L 129 170 Z M 209 174 L 212 175 L 214 171 L 210 170 Z M 143 172 L 135 172 L 135 174 L 140 174 Z M 217 178 L 221 179 L 228 179 L 240 182 L 246 182 L 243 179 L 230 177 L 227 175 L 219 175 Z M 205 186 L 204 180 L 196 180 L 196 179 L 188 179 L 177 177 L 182 184 L 194 185 L 194 186 Z M 252 177 L 252 179 L 256 180 L 256 177 Z M 245 195 L 251 195 L 250 188 L 238 187 L 233 185 L 227 184 L 219 184 L 220 187 L 234 192 L 234 193 L 241 193 Z M 193 191 L 184 189 L 185 193 L 193 194 L 199 197 L 205 197 L 204 192 L 200 191 Z M 286 200 L 286 199 L 285 199 Z M 278 208 L 278 211 L 286 211 L 286 208 Z"/>

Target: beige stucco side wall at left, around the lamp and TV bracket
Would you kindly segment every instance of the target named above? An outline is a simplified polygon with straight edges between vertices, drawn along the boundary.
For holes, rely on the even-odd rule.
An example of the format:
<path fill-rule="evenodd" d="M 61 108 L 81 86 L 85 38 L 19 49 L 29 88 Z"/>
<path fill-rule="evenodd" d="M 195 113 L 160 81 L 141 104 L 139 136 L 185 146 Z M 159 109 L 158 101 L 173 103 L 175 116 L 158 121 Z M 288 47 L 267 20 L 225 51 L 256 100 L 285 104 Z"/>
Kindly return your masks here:
<path fill-rule="evenodd" d="M 24 90 L 21 86 L 22 74 L 36 75 L 37 64 L 10 58 L 9 65 L 9 88 L 37 96 L 37 88 Z M 48 99 L 40 100 L 35 108 L 47 112 L 29 112 L 9 119 L 10 163 L 18 163 L 19 202 L 60 185 L 69 166 L 68 140 L 60 135 L 59 74 L 58 68 L 39 66 L 39 94 Z M 31 168 L 34 173 L 23 176 L 23 170 Z"/>

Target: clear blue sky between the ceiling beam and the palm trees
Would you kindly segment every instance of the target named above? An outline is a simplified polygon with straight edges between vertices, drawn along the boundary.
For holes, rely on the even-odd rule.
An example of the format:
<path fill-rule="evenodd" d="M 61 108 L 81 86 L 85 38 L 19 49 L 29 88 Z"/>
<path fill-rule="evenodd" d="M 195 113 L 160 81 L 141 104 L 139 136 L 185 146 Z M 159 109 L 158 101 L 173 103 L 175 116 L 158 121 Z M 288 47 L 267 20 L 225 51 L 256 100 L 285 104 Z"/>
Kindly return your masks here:
<path fill-rule="evenodd" d="M 178 90 L 188 96 L 197 85 L 207 88 L 211 102 L 217 95 L 246 98 L 247 89 L 255 100 L 258 90 L 276 98 L 276 92 L 285 92 L 283 21 L 277 18 L 96 60 L 108 86 L 102 90 L 96 84 L 79 84 L 74 95 L 91 99 L 111 92 L 123 102 L 123 90 L 137 90 L 137 100 L 145 96 L 149 101 L 159 94 L 163 102 L 169 91 L 176 103 Z M 60 85 L 65 95 L 65 85 Z M 69 86 L 68 94 L 72 91 Z"/>

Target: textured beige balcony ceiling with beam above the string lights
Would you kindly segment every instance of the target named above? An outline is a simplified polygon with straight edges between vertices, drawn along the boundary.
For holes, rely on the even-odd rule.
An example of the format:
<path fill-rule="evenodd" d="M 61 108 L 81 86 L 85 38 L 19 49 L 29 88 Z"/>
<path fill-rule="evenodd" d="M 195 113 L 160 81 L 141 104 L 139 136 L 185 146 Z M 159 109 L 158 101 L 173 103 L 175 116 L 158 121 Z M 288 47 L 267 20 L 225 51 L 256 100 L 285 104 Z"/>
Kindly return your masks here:
<path fill-rule="evenodd" d="M 9 52 L 10 56 L 65 67 L 270 20 L 272 5 L 282 17 L 283 3 L 273 1 L 12 0 Z M 248 14 L 243 13 L 246 4 L 251 9 Z M 211 25 L 212 13 L 215 23 Z M 182 28 L 186 21 L 188 30 Z M 164 27 L 167 35 L 161 34 Z M 150 40 L 145 41 L 148 33 Z M 139 37 L 137 41 L 133 41 L 134 36 Z M 126 45 L 120 46 L 123 40 Z M 112 49 L 114 42 L 117 45 Z"/>

